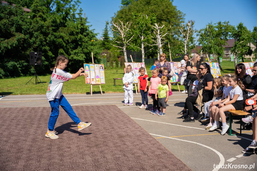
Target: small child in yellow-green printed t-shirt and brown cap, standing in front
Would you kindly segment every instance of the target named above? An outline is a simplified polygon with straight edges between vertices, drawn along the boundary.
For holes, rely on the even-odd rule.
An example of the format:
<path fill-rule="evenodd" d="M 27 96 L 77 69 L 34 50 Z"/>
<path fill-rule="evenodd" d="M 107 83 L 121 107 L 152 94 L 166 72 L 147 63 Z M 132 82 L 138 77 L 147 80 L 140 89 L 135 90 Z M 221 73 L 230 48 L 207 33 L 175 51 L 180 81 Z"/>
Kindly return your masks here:
<path fill-rule="evenodd" d="M 156 93 L 155 93 L 155 99 L 157 100 L 157 94 L 158 94 L 158 105 L 161 107 L 161 112 L 158 113 L 159 116 L 165 116 L 167 101 L 169 98 L 169 87 L 166 84 L 167 83 L 167 77 L 162 76 L 161 77 L 161 84 L 158 85 Z"/>

